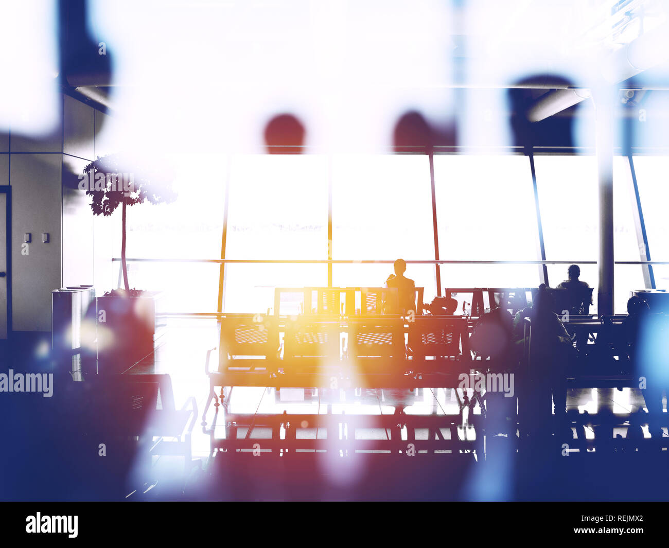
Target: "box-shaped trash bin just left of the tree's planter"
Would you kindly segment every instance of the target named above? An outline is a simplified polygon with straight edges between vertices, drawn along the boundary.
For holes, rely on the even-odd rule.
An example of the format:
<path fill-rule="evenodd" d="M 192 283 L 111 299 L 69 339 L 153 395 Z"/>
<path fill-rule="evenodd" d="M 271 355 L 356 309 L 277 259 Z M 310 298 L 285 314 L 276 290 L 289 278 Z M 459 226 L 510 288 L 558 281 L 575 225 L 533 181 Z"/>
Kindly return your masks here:
<path fill-rule="evenodd" d="M 75 381 L 94 374 L 96 364 L 96 300 L 93 286 L 52 291 L 52 351 L 57 374 Z"/>

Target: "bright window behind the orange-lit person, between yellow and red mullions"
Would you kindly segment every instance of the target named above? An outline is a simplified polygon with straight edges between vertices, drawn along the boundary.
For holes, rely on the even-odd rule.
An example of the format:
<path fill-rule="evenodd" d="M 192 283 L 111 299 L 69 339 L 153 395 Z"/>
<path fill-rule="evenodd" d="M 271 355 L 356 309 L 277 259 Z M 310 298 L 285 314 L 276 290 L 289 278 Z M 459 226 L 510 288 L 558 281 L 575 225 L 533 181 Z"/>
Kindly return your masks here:
<path fill-rule="evenodd" d="M 434 259 L 432 191 L 425 155 L 332 157 L 332 258 Z M 334 286 L 381 286 L 392 265 L 333 265 Z M 407 276 L 436 294 L 435 268 L 409 265 Z M 429 289 L 428 289 L 429 288 Z"/>

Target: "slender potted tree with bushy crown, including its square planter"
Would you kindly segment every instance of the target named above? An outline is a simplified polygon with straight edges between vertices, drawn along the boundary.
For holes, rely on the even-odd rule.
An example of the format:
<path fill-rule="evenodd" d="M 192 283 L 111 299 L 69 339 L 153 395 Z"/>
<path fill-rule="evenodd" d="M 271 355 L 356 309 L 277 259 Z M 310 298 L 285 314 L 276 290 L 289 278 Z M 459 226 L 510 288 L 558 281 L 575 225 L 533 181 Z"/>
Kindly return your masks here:
<path fill-rule="evenodd" d="M 126 261 L 126 217 L 131 205 L 169 203 L 177 195 L 165 164 L 150 167 L 127 155 L 98 157 L 80 175 L 80 189 L 92 196 L 94 215 L 112 215 L 121 208 L 123 288 L 97 297 L 98 373 L 119 373 L 153 351 L 157 293 L 130 288 Z"/>

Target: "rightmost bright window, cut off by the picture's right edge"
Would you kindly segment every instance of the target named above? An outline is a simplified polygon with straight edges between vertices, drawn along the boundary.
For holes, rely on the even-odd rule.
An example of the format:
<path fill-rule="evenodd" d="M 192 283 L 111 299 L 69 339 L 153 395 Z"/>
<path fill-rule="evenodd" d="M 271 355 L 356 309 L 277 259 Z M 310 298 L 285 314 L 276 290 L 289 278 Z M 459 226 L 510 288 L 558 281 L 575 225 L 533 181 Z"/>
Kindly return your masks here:
<path fill-rule="evenodd" d="M 635 156 L 634 171 L 639 185 L 641 207 L 646 221 L 646 234 L 650 257 L 656 261 L 669 260 L 669 216 L 666 204 L 669 200 L 669 158 L 661 156 Z M 669 267 L 653 266 L 655 284 L 658 289 L 669 289 Z"/>

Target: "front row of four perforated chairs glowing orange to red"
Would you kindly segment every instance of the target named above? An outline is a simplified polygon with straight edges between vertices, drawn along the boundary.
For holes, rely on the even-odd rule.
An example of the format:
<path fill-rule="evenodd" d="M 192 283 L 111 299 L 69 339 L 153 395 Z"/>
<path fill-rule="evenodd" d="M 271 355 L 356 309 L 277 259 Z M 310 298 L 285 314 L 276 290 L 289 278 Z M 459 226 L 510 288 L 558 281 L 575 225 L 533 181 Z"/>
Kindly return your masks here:
<path fill-rule="evenodd" d="M 444 363 L 471 359 L 463 316 L 328 316 L 286 318 L 280 337 L 276 316 L 231 314 L 222 318 L 219 370 L 267 369 L 284 373 L 353 363 L 361 369 L 403 373 L 435 371 Z M 408 331 L 408 340 L 405 332 Z M 420 366 L 418 364 L 420 363 Z"/>

